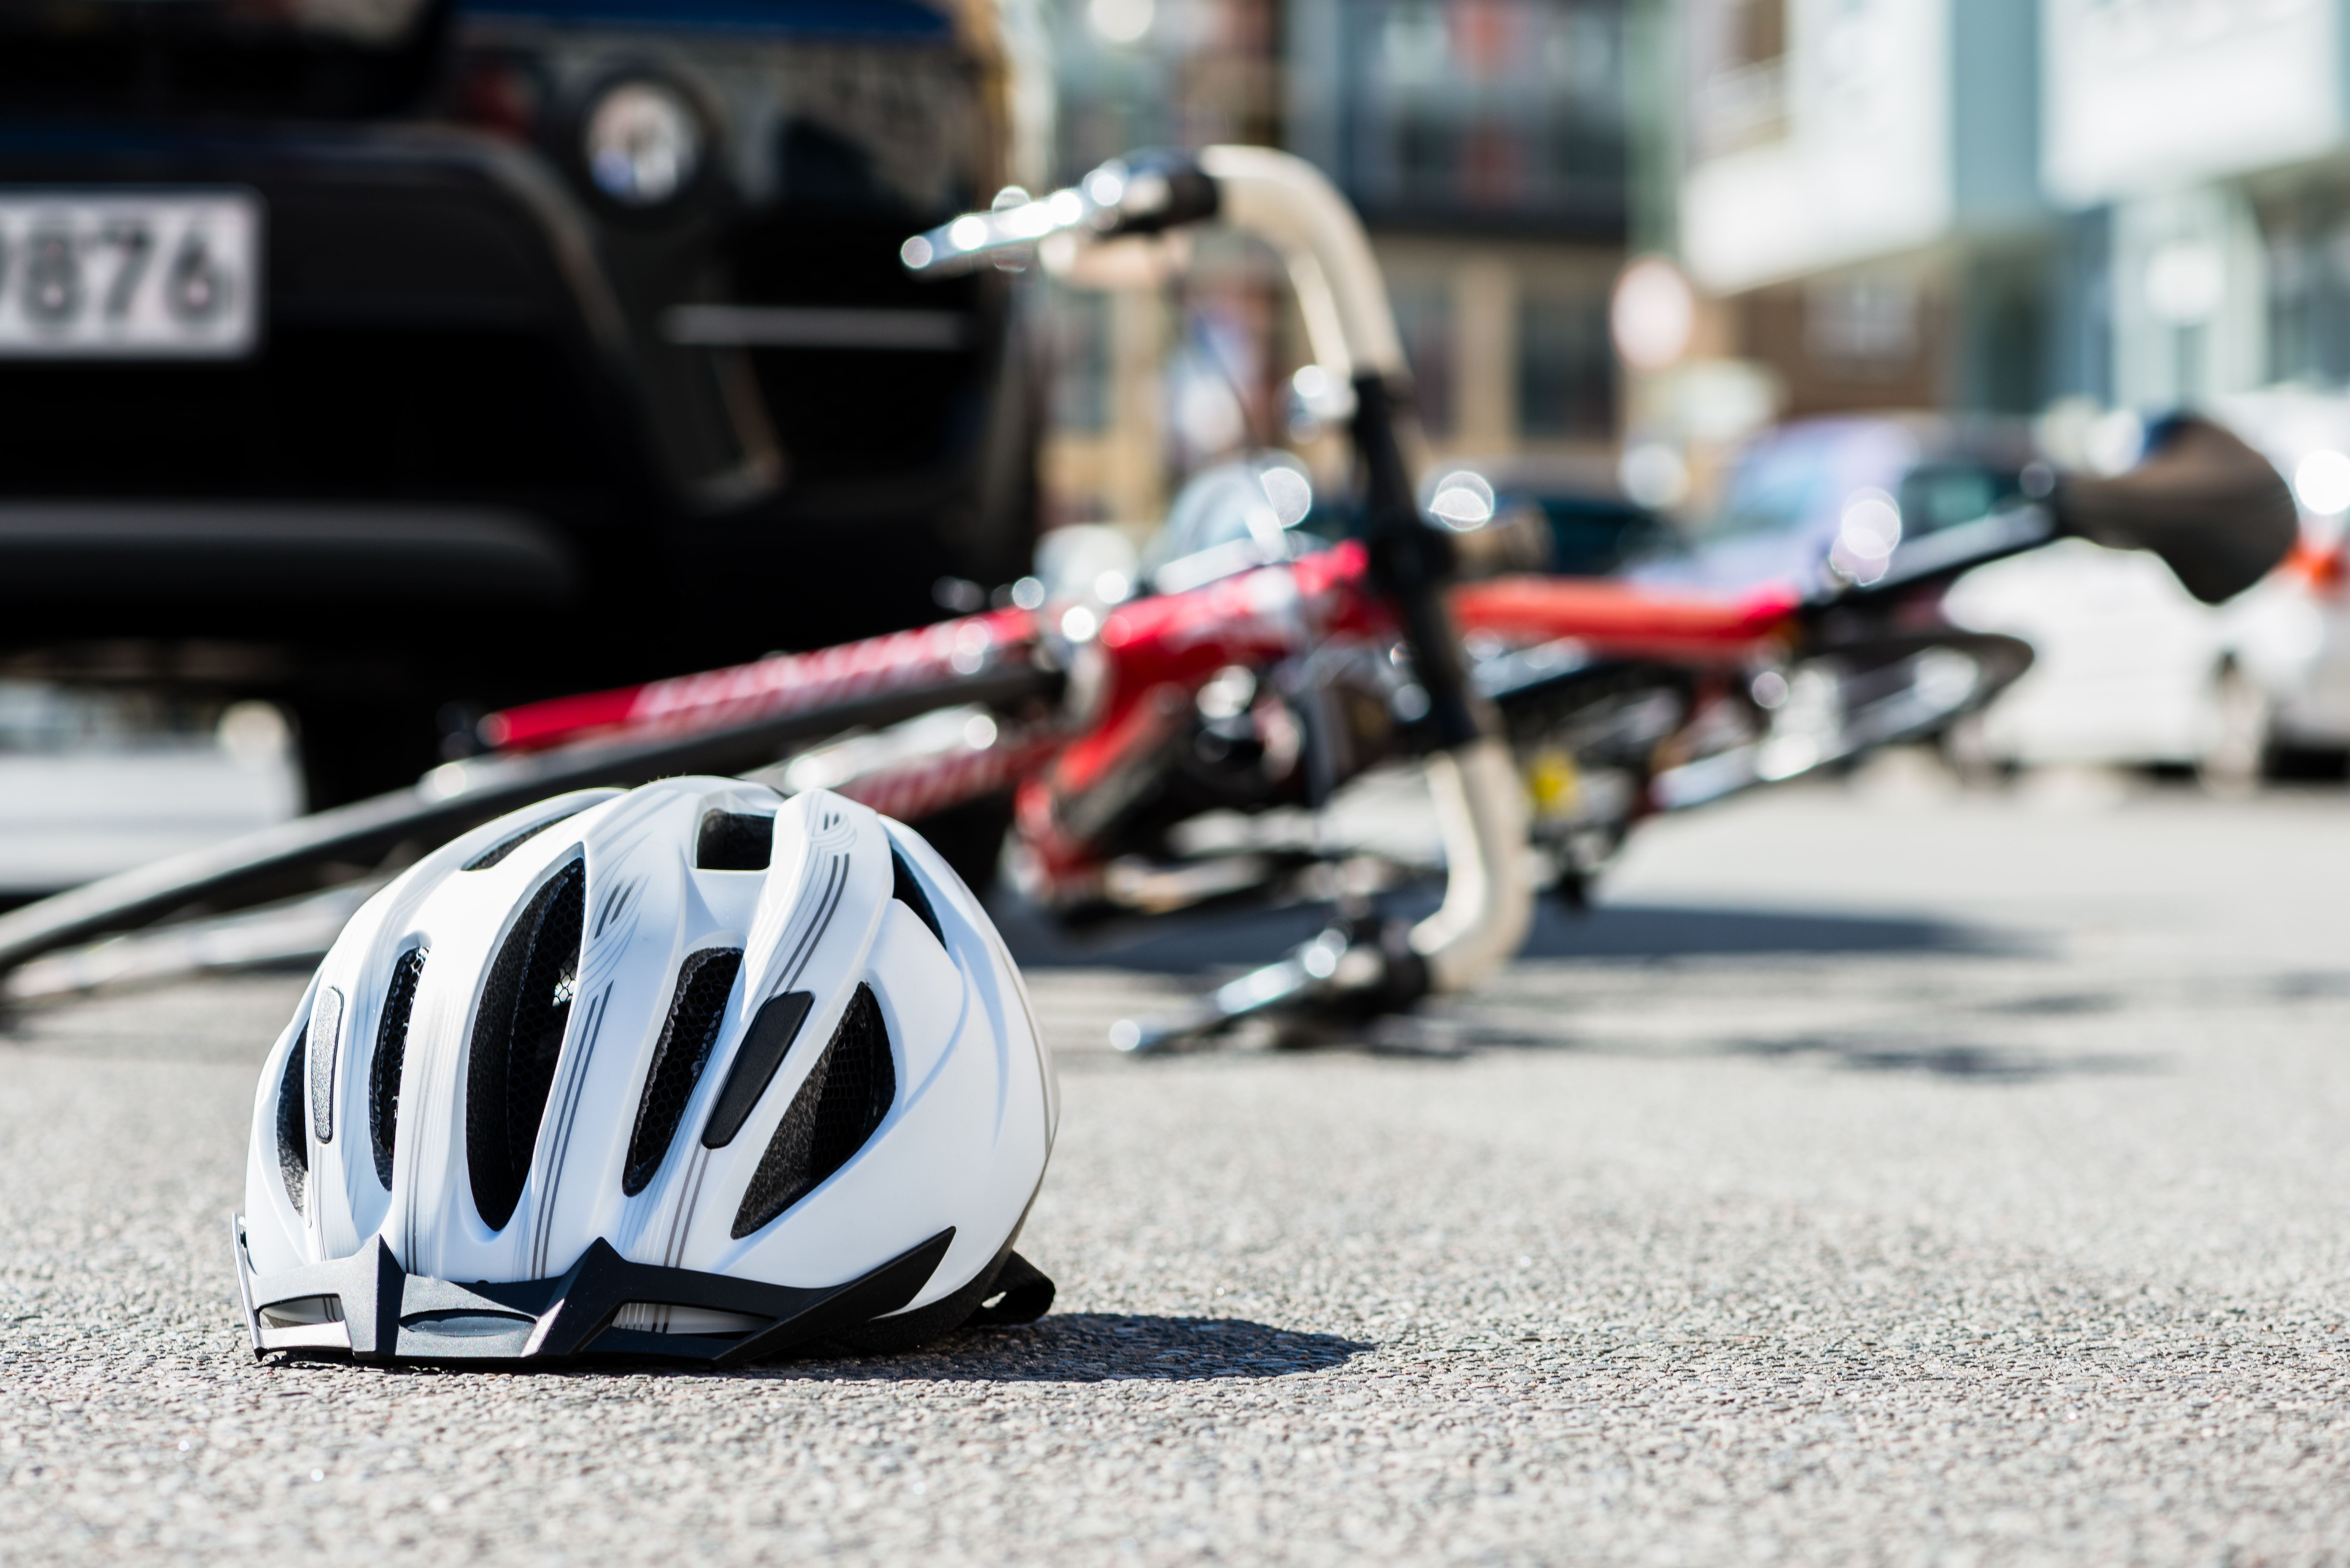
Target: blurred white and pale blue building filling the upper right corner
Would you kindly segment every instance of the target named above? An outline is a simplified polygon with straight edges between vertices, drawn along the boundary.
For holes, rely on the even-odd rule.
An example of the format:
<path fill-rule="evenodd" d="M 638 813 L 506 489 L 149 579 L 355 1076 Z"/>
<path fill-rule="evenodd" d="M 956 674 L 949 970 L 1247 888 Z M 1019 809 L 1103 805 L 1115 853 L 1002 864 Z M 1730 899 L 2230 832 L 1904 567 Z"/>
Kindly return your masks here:
<path fill-rule="evenodd" d="M 2350 0 L 1680 0 L 1678 249 L 1793 414 L 2350 383 Z"/>

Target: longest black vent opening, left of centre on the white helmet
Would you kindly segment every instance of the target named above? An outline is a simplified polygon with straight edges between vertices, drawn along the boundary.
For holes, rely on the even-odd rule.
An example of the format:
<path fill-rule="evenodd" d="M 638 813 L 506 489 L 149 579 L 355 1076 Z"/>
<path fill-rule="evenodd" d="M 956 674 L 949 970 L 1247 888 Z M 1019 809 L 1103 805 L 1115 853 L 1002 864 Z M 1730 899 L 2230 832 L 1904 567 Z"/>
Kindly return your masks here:
<path fill-rule="evenodd" d="M 491 1229 L 515 1218 L 531 1173 L 571 1023 L 585 914 L 588 867 L 571 860 L 531 896 L 482 987 L 465 1063 L 465 1166 L 472 1206 Z"/>

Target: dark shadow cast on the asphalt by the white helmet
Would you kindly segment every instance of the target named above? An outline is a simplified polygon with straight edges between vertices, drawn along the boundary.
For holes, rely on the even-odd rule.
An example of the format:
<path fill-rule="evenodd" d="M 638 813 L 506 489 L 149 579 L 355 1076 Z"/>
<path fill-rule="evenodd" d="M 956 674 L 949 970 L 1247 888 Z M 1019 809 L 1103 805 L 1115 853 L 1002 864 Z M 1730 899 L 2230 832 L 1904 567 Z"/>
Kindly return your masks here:
<path fill-rule="evenodd" d="M 738 1375 L 884 1382 L 1203 1382 L 1344 1366 L 1363 1340 L 1236 1316 L 1055 1312 L 1022 1328 L 964 1328 L 895 1356 L 806 1356 Z"/>

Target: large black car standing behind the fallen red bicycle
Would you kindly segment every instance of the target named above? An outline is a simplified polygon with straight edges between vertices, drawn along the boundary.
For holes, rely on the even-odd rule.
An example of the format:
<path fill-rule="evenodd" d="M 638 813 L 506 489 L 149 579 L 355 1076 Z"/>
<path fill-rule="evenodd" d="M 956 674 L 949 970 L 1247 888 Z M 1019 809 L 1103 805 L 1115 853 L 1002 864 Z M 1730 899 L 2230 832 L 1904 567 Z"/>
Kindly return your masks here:
<path fill-rule="evenodd" d="M 1036 85 L 921 0 L 0 0 L 0 670 L 270 696 L 313 806 L 468 703 L 1029 559 Z"/>

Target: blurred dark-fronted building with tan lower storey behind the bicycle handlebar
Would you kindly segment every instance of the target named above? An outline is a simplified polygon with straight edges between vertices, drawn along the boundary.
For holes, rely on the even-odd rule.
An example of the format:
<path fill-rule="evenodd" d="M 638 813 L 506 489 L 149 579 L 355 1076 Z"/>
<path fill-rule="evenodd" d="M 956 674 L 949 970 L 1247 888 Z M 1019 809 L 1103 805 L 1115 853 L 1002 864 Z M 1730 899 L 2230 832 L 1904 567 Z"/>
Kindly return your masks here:
<path fill-rule="evenodd" d="M 1290 0 L 1288 146 L 1370 223 L 1438 447 L 1614 440 L 1622 0 Z"/>

